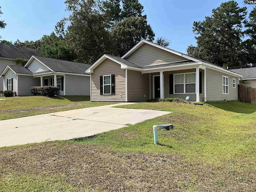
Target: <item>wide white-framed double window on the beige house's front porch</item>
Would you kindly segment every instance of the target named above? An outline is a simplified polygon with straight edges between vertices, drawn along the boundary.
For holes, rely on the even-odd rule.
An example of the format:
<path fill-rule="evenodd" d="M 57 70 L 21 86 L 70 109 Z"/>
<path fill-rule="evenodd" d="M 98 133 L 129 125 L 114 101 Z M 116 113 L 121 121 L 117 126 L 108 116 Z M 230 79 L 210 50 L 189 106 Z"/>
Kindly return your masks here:
<path fill-rule="evenodd" d="M 196 73 L 174 74 L 174 94 L 196 93 Z"/>

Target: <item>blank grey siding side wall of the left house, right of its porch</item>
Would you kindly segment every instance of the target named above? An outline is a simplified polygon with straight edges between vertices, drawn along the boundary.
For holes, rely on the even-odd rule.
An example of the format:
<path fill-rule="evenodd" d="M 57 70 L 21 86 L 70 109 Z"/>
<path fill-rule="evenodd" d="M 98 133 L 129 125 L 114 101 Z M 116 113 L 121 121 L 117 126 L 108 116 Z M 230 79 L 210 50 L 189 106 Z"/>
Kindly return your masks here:
<path fill-rule="evenodd" d="M 66 95 L 90 95 L 90 77 L 65 75 L 65 78 Z"/>

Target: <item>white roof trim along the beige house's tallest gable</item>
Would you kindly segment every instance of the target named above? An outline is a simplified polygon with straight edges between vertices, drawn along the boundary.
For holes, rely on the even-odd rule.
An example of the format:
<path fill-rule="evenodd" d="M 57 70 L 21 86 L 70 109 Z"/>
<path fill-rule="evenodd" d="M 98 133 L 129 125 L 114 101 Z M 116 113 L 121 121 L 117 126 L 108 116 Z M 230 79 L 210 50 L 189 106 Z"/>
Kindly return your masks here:
<path fill-rule="evenodd" d="M 157 48 L 160 48 L 162 50 L 165 50 L 165 51 L 168 51 L 170 53 L 173 53 L 173 54 L 176 54 L 178 56 L 181 56 L 181 57 L 184 57 L 186 59 L 189 59 L 189 60 L 192 60 L 192 61 L 195 61 L 195 62 L 199 62 L 200 60 L 196 59 L 196 58 L 193 58 L 193 57 L 190 57 L 186 54 L 182 54 L 180 52 L 177 52 L 177 51 L 174 51 L 174 50 L 171 50 L 169 48 L 166 48 L 166 47 L 163 47 L 163 46 L 160 46 L 158 44 L 155 44 L 155 43 L 152 43 L 152 42 L 149 42 L 147 40 L 144 40 L 142 39 L 140 42 L 138 42 L 133 48 L 131 48 L 126 54 L 124 54 L 124 56 L 122 56 L 123 59 L 125 59 L 126 57 L 130 56 L 130 54 L 132 54 L 134 51 L 136 51 L 140 46 L 142 46 L 144 43 L 147 43 L 147 44 L 150 44 L 152 46 L 155 46 Z"/>

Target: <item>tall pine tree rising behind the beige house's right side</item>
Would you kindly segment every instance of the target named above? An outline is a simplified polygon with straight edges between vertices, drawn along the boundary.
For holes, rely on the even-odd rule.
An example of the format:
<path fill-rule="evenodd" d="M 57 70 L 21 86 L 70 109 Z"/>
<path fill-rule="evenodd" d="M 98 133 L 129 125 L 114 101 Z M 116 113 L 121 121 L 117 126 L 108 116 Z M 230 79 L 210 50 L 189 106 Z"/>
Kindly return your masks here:
<path fill-rule="evenodd" d="M 194 22 L 193 32 L 196 36 L 197 48 L 189 47 L 188 54 L 196 54 L 204 50 L 209 62 L 222 58 L 220 66 L 233 65 L 235 58 L 242 52 L 242 24 L 246 18 L 246 7 L 240 8 L 235 1 L 222 3 L 212 10 L 212 16 L 206 16 L 202 22 Z M 195 55 L 194 55 L 195 56 Z M 200 57 L 200 55 L 198 55 Z"/>

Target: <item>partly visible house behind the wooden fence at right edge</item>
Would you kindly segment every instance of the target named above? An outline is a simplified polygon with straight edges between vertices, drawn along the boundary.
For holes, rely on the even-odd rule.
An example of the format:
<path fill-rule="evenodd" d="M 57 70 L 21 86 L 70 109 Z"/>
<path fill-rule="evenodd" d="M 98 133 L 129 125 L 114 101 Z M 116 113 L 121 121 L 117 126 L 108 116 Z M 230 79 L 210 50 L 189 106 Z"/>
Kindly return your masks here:
<path fill-rule="evenodd" d="M 229 68 L 229 70 L 243 75 L 242 80 L 248 80 L 248 83 L 240 82 L 241 85 L 256 87 L 256 67 L 237 66 Z"/>

